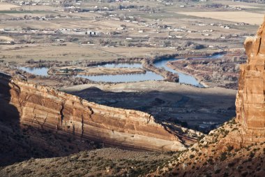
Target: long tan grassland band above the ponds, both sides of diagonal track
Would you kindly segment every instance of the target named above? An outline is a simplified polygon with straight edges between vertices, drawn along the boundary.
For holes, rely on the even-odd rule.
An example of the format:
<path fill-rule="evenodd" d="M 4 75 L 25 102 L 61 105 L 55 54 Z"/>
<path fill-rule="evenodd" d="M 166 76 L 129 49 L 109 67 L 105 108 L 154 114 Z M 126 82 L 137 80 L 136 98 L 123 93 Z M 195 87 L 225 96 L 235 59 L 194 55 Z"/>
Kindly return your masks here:
<path fill-rule="evenodd" d="M 153 57 L 176 52 L 169 48 L 107 48 L 97 45 L 66 43 L 66 46 L 53 46 L 50 43 L 1 45 L 0 58 L 8 62 L 25 62 L 29 59 L 73 61 L 80 59 L 112 60 L 119 57 Z"/>

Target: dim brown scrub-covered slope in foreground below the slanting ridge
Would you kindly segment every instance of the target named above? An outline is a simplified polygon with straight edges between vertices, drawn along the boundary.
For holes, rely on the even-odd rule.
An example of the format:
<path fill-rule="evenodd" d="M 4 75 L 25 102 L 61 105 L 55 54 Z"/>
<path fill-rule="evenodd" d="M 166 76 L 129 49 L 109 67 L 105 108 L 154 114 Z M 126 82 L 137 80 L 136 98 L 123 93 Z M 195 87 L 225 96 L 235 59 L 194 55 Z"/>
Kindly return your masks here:
<path fill-rule="evenodd" d="M 0 176 L 139 176 L 171 158 L 171 153 L 103 148 L 67 157 L 31 158 L 0 170 Z"/>

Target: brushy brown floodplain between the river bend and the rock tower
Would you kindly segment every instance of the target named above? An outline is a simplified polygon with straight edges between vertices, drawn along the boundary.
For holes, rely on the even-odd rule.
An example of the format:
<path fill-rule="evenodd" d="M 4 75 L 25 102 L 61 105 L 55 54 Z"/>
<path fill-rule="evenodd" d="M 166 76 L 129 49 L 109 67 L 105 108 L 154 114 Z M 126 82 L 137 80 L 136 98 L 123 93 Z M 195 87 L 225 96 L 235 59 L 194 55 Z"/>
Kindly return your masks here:
<path fill-rule="evenodd" d="M 235 50 L 222 57 L 199 57 L 179 59 L 167 63 L 174 71 L 186 73 L 209 87 L 225 87 L 236 90 L 238 87 L 239 64 L 245 63 L 244 52 Z"/>

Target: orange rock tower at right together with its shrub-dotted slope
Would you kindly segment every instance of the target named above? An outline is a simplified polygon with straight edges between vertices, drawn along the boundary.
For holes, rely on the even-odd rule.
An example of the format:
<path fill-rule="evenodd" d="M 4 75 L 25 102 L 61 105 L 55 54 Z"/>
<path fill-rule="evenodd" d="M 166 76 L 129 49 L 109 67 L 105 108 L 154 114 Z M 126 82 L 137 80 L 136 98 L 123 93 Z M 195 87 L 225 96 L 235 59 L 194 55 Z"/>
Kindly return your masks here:
<path fill-rule="evenodd" d="M 265 176 L 265 21 L 245 40 L 236 118 L 195 143 L 167 167 L 164 176 Z"/>

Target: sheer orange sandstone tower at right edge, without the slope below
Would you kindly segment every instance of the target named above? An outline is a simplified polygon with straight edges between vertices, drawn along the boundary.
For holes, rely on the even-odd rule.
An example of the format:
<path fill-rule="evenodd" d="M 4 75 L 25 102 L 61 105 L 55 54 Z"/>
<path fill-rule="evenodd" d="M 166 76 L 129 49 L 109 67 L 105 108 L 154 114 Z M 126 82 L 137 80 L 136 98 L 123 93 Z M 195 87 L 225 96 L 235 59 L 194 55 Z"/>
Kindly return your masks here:
<path fill-rule="evenodd" d="M 248 62 L 241 65 L 236 97 L 236 120 L 243 127 L 237 138 L 241 145 L 265 141 L 265 22 L 244 45 Z"/>

